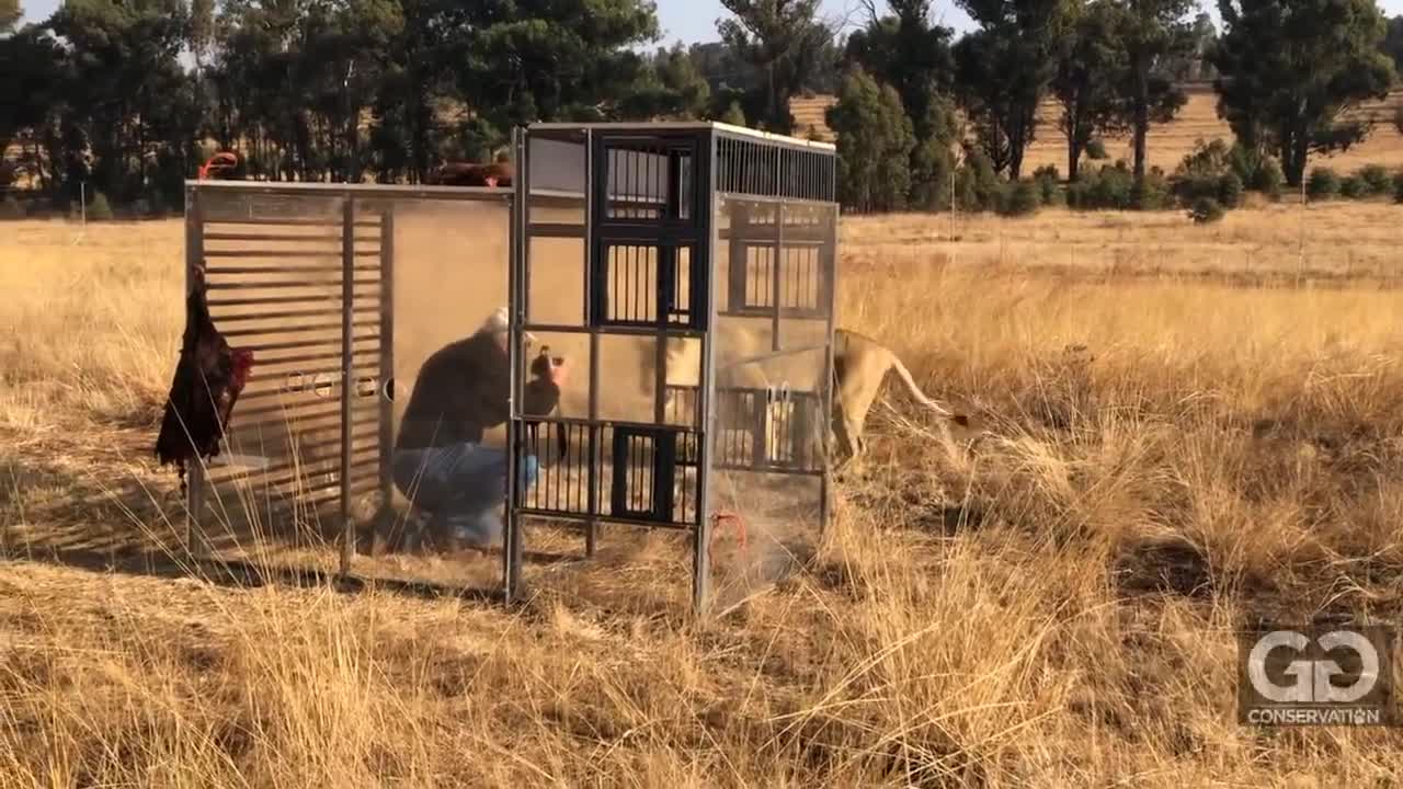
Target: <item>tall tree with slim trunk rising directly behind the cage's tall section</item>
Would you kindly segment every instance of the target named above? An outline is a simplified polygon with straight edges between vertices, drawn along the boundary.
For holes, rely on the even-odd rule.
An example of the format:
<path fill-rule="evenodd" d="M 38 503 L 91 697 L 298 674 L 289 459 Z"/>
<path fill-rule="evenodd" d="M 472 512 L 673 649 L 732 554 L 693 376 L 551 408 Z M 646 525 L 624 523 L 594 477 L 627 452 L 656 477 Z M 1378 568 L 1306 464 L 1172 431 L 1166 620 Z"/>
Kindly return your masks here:
<path fill-rule="evenodd" d="M 762 126 L 788 133 L 788 100 L 821 60 L 835 55 L 833 31 L 817 17 L 819 0 L 721 0 L 728 20 L 717 22 L 721 41 L 755 66 L 765 80 Z"/>

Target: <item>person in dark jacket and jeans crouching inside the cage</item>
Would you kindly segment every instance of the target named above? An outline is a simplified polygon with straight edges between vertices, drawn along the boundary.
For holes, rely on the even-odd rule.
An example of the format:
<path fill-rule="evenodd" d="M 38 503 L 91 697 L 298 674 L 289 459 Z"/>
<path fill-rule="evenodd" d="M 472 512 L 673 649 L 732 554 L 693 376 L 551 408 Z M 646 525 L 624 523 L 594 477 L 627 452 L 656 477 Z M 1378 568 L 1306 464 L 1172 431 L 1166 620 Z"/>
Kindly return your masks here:
<path fill-rule="evenodd" d="M 418 511 L 410 546 L 424 532 L 459 548 L 487 549 L 502 536 L 508 452 L 483 446 L 484 431 L 511 417 L 506 310 L 497 310 L 464 340 L 439 348 L 419 368 L 400 423 L 391 473 Z M 560 402 L 565 364 L 547 365 L 525 386 L 522 411 L 546 416 Z M 536 482 L 539 462 L 522 459 L 518 482 Z"/>

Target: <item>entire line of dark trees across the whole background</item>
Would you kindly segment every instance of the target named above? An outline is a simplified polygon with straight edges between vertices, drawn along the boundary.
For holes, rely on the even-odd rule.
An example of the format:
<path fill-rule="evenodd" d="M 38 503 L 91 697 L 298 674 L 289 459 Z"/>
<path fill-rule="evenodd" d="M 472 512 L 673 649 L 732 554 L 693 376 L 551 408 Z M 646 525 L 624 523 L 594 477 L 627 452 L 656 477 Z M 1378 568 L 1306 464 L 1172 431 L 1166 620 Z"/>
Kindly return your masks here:
<path fill-rule="evenodd" d="M 60 208 L 101 194 L 174 209 L 219 149 L 241 177 L 419 183 L 530 121 L 794 133 L 790 98 L 814 91 L 839 97 L 850 209 L 940 209 L 1027 181 L 1045 98 L 1072 184 L 1103 138 L 1129 133 L 1143 192 L 1149 128 L 1207 77 L 1242 149 L 1296 185 L 1309 156 L 1368 135 L 1351 111 L 1403 59 L 1403 18 L 1374 0 L 1219 0 L 1221 31 L 1193 0 L 955 3 L 975 22 L 962 37 L 932 0 L 863 0 L 847 34 L 819 0 L 723 0 L 718 42 L 650 51 L 647 0 L 66 0 L 24 25 L 0 0 L 0 185 Z"/>

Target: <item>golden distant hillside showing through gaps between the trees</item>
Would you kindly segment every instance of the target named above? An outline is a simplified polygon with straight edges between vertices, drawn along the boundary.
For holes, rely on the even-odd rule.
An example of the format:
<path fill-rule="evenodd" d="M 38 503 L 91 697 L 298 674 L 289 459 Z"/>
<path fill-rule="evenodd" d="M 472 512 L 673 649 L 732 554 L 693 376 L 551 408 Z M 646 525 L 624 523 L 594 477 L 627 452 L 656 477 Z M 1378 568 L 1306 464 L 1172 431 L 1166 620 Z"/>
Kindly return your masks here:
<path fill-rule="evenodd" d="M 1232 140 L 1232 131 L 1228 124 L 1218 119 L 1218 95 L 1211 83 L 1190 83 L 1183 86 L 1188 95 L 1188 104 L 1179 111 L 1179 117 L 1172 124 L 1150 126 L 1149 150 L 1150 166 L 1163 167 L 1173 171 L 1180 160 L 1193 150 L 1198 139 Z M 833 105 L 838 98 L 833 95 L 796 97 L 790 101 L 790 114 L 794 115 L 796 136 L 805 136 L 812 128 L 821 139 L 832 142 L 833 132 L 824 119 L 824 112 Z M 1362 145 L 1351 147 L 1348 152 L 1337 153 L 1329 159 L 1312 156 L 1312 166 L 1329 164 L 1340 170 L 1354 170 L 1362 164 L 1383 164 L 1385 167 L 1403 167 L 1403 135 L 1393 128 L 1393 112 L 1403 107 L 1403 88 L 1395 90 L 1383 101 L 1371 102 L 1360 112 L 1372 114 L 1378 119 L 1374 133 Z M 1066 140 L 1056 129 L 1058 105 L 1055 101 L 1044 101 L 1038 108 L 1037 139 L 1024 156 L 1024 173 L 1044 164 L 1055 164 L 1058 171 L 1066 174 Z M 1113 136 L 1106 140 L 1106 150 L 1110 160 L 1124 157 L 1131 160 L 1131 138 Z"/>

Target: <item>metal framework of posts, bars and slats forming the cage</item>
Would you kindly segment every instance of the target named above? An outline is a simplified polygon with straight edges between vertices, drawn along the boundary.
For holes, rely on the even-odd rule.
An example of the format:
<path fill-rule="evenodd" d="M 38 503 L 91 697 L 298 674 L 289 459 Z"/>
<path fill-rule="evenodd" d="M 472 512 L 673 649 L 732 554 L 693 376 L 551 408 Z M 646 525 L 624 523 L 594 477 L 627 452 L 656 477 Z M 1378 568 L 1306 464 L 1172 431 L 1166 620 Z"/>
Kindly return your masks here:
<path fill-rule="evenodd" d="M 532 139 L 565 140 L 581 145 L 584 157 L 585 185 L 581 191 L 561 191 L 547 188 L 533 188 L 530 184 L 530 142 Z M 659 170 L 650 170 L 651 175 L 658 175 L 657 184 L 661 188 L 644 185 L 631 194 L 612 194 L 609 168 L 616 164 L 620 156 L 613 152 L 631 150 L 641 157 L 658 156 L 664 164 Z M 216 323 L 233 324 L 226 330 L 231 340 L 240 338 L 236 344 L 253 341 L 255 354 L 264 351 L 288 351 L 293 355 L 279 357 L 272 364 L 306 364 L 340 361 L 341 369 L 327 369 L 325 373 L 341 376 L 340 402 L 331 410 L 307 410 L 300 416 L 310 423 L 334 420 L 334 427 L 340 428 L 335 441 L 314 445 L 310 449 L 337 448 L 334 455 L 318 456 L 314 462 L 328 463 L 324 472 L 335 472 L 335 496 L 340 504 L 340 539 L 341 556 L 340 570 L 348 576 L 352 570 L 356 553 L 356 535 L 349 514 L 351 497 L 361 490 L 354 476 L 354 469 L 359 468 L 356 456 L 361 453 L 355 442 L 362 439 L 358 432 L 358 407 L 352 396 L 349 376 L 366 366 L 379 373 L 382 387 L 393 386 L 394 373 L 394 320 L 393 320 L 393 278 L 397 261 L 394 260 L 394 218 L 393 206 L 380 209 L 379 222 L 365 222 L 358 218 L 358 208 L 370 205 L 384 205 L 384 201 L 394 199 L 434 199 L 434 201 L 478 201 L 501 202 L 509 206 L 509 261 L 508 261 L 508 303 L 509 303 L 509 359 L 512 365 L 511 385 L 511 418 L 506 424 L 506 442 L 511 462 L 506 470 L 508 498 L 505 512 L 504 550 L 502 550 L 502 585 L 504 597 L 511 601 L 521 592 L 523 566 L 523 532 L 522 518 L 546 517 L 551 519 L 574 521 L 584 529 L 585 553 L 593 555 L 598 539 L 598 526 L 603 522 L 647 526 L 647 528 L 680 528 L 692 532 L 693 542 L 693 583 L 692 598 L 697 612 L 706 612 L 710 605 L 710 543 L 713 518 L 709 503 L 709 489 L 711 487 L 710 472 L 713 468 L 730 469 L 728 463 L 717 465 L 713 460 L 718 451 L 716 430 L 713 430 L 714 411 L 720 403 L 716 383 L 717 375 L 717 347 L 714 330 L 723 316 L 770 317 L 773 341 L 772 352 L 780 351 L 780 326 L 786 317 L 825 319 L 826 334 L 824 344 L 825 362 L 828 365 L 826 385 L 818 393 L 821 404 L 817 409 L 818 418 L 824 427 L 832 414 L 832 358 L 833 331 L 836 306 L 836 159 L 835 149 L 829 143 L 798 140 L 781 138 L 738 126 L 723 124 L 536 124 L 528 128 L 513 129 L 512 152 L 516 163 L 518 178 L 512 188 L 463 188 L 463 187 L 400 187 L 382 184 L 286 184 L 286 183 L 248 183 L 248 181 L 188 181 L 187 183 L 187 284 L 189 272 L 198 264 L 209 260 L 222 260 L 215 272 L 222 274 L 258 274 L 278 272 L 288 274 L 316 274 L 328 272 L 331 268 L 316 264 L 269 265 L 265 261 L 254 264 L 240 264 L 237 258 L 276 257 L 292 261 L 309 254 L 297 250 L 282 250 L 281 253 L 240 253 L 239 250 L 212 250 L 206 241 L 229 240 L 290 240 L 285 233 L 278 236 L 276 230 L 248 233 L 209 233 L 209 216 L 202 197 L 206 192 L 226 195 L 258 195 L 289 198 L 289 205 L 295 205 L 297 198 L 340 198 L 340 220 L 333 218 L 297 218 L 278 213 L 272 216 L 255 218 L 250 211 L 247 218 L 223 216 L 219 223 L 251 225 L 251 226 L 325 226 L 328 230 L 340 225 L 340 279 L 334 282 L 341 289 L 341 303 L 335 309 L 328 309 L 324 300 L 299 307 L 307 302 L 306 296 L 261 296 L 246 299 L 224 299 L 224 306 L 274 306 L 274 310 L 258 313 L 257 319 L 244 314 L 215 316 Z M 633 156 L 633 154 L 629 154 Z M 647 161 L 654 161 L 647 159 Z M 651 164 L 650 164 L 651 167 Z M 616 190 L 626 192 L 626 190 Z M 730 230 L 720 230 L 720 212 L 727 201 L 741 199 L 753 202 L 776 204 L 777 226 L 774 237 L 769 240 L 749 239 L 751 243 L 767 243 L 774 250 L 773 271 L 773 305 L 769 309 L 735 309 L 730 305 L 723 313 L 718 309 L 724 292 L 730 288 L 727 278 L 718 277 L 714 265 L 714 254 L 721 250 L 723 241 L 732 248 L 744 244 L 745 232 L 732 225 Z M 833 211 L 832 222 L 812 237 L 810 233 L 796 233 L 791 239 L 810 247 L 819 248 L 817 275 L 825 284 L 826 291 L 817 293 L 818 302 L 814 309 L 790 310 L 784 307 L 780 289 L 783 256 L 786 248 L 784 212 L 788 206 L 815 205 Z M 532 208 L 536 206 L 564 206 L 584 208 L 584 223 L 533 222 Z M 292 213 L 292 212 L 288 212 Z M 377 248 L 373 239 L 359 234 L 361 227 L 377 226 L 380 236 Z M 321 239 L 320 236 L 317 236 Z M 564 237 L 584 240 L 584 324 L 582 326 L 551 326 L 533 324 L 530 321 L 530 240 L 536 237 Z M 330 241 L 327 239 L 321 239 Z M 362 241 L 366 241 L 365 244 Z M 647 314 L 648 306 L 644 303 L 644 319 L 631 314 L 627 320 L 617 320 L 617 316 L 607 314 L 603 298 L 609 284 L 606 281 L 610 244 L 633 246 L 648 250 L 648 258 L 643 265 L 645 271 L 657 271 L 659 282 L 657 285 L 648 279 L 648 288 L 643 291 L 644 302 L 652 299 L 652 313 Z M 680 298 L 682 263 L 680 248 L 687 248 L 686 277 L 687 300 L 683 305 Z M 327 253 L 320 253 L 325 256 Z M 742 253 L 744 254 L 744 253 Z M 375 258 L 372 263 L 370 258 Z M 732 257 L 732 260 L 735 260 Z M 652 268 L 648 268 L 648 267 Z M 212 274 L 215 274 L 212 272 Z M 376 272 L 377 279 L 369 277 Z M 650 277 L 645 274 L 644 277 Z M 240 289 L 254 286 L 289 286 L 306 285 L 309 279 L 297 278 L 286 282 L 219 282 L 219 277 L 212 277 L 210 289 Z M 379 285 L 377 298 L 359 289 L 361 285 Z M 807 291 L 805 291 L 807 292 Z M 807 302 L 805 302 L 807 303 Z M 212 310 L 216 305 L 212 303 Z M 685 313 L 682 312 L 685 309 Z M 376 316 L 376 313 L 379 313 Z M 826 313 L 826 314 L 824 314 Z M 334 323 L 316 323 L 316 317 L 330 319 Z M 375 316 L 376 320 L 362 320 L 361 316 Z M 297 320 L 296 330 L 306 333 L 337 331 L 338 338 L 318 337 L 292 343 L 257 343 L 260 336 L 278 333 L 278 329 L 246 327 L 241 324 L 257 320 L 285 319 Z M 309 320 L 310 319 L 310 320 Z M 379 334 L 368 334 L 372 327 Z M 589 343 L 589 393 L 588 417 L 530 417 L 522 411 L 525 392 L 525 364 L 522 344 L 528 331 L 536 333 L 572 333 L 584 334 Z M 600 383 L 600 338 L 617 337 L 647 337 L 655 341 L 657 348 L 657 379 L 654 380 L 655 403 L 651 423 L 627 423 L 620 420 L 602 420 L 599 403 Z M 679 424 L 669 420 L 665 407 L 665 394 L 672 390 L 665 379 L 665 341 L 671 337 L 700 341 L 702 362 L 699 382 L 692 392 L 692 416 L 689 424 Z M 362 343 L 379 341 L 376 348 L 362 348 Z M 340 344 L 335 352 L 330 352 L 333 345 Z M 807 348 L 818 350 L 818 345 Z M 787 350 L 783 352 L 797 352 Z M 372 357 L 362 361 L 365 357 Z M 257 372 L 255 372 L 257 376 Z M 741 393 L 727 389 L 724 394 Z M 268 393 L 253 392 L 246 394 L 240 403 L 239 416 L 272 414 L 278 411 L 278 402 L 269 402 Z M 274 392 L 274 394 L 278 394 Z M 744 393 L 741 393 L 744 394 Z M 756 394 L 756 393 L 751 393 Z M 260 402 L 264 400 L 264 402 Z M 327 403 L 330 406 L 330 403 Z M 811 406 L 812 407 L 812 406 Z M 370 463 L 377 466 L 376 486 L 389 496 L 393 491 L 390 480 L 390 449 L 393 446 L 393 403 L 389 397 L 379 397 L 376 409 L 376 431 L 373 437 L 379 442 L 376 458 Z M 582 445 L 579 463 L 586 476 L 582 511 L 542 511 L 526 507 L 525 490 L 521 484 L 521 459 L 525 453 L 529 425 L 558 424 L 564 425 Z M 800 425 L 803 427 L 803 424 Z M 607 431 L 616 431 L 613 441 L 605 441 Z M 648 496 L 647 505 L 640 508 L 624 507 L 626 511 L 609 508 L 605 514 L 606 497 L 613 504 L 623 496 L 622 489 L 612 486 L 605 490 L 603 456 L 615 444 L 627 444 L 630 435 L 651 441 L 650 456 L 652 476 L 648 486 L 654 496 Z M 742 470 L 758 470 L 766 473 L 794 473 L 821 477 L 822 503 L 821 519 L 824 528 L 829 519 L 829 470 L 828 455 L 831 451 L 829 431 L 821 430 L 822 462 L 818 465 L 796 460 L 786 466 L 774 463 L 773 459 L 760 458 L 760 462 L 737 466 Z M 807 441 L 808 437 L 797 437 Z M 368 439 L 368 438 L 366 438 Z M 535 441 L 535 434 L 530 437 Z M 807 449 L 796 452 L 805 456 Z M 693 491 L 692 507 L 682 505 L 682 515 L 671 507 L 672 482 L 675 473 L 686 477 L 686 469 L 696 469 L 694 486 L 683 486 L 683 496 Z M 265 473 L 285 472 L 286 469 L 269 469 Z M 543 470 L 544 473 L 544 470 Z M 619 477 L 617 469 L 615 475 Z M 640 477 L 641 479 L 641 477 Z M 195 532 L 199 529 L 199 515 L 205 507 L 205 487 L 209 484 L 208 469 L 198 466 L 191 469 L 188 491 L 188 533 L 187 542 L 194 549 Z M 620 483 L 631 484 L 631 483 Z M 689 483 L 692 484 L 692 483 Z M 666 486 L 668 490 L 661 489 Z M 320 489 L 328 493 L 331 489 Z M 330 500 L 324 500 L 330 504 Z M 575 508 L 578 510 L 578 507 Z M 616 512 L 616 514 L 615 514 Z"/>

